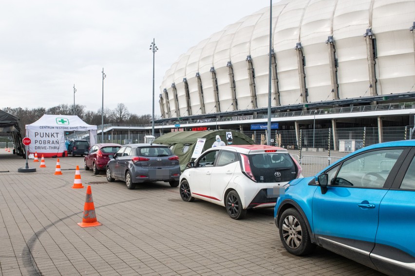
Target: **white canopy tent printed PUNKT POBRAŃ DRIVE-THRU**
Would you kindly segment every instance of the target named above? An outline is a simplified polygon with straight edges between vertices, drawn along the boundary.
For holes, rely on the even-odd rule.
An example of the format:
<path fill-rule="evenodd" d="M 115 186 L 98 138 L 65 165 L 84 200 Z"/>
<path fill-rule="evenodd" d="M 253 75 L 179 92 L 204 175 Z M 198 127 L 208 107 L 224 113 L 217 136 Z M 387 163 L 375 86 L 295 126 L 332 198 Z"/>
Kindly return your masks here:
<path fill-rule="evenodd" d="M 89 131 L 90 144 L 96 143 L 96 125 L 87 124 L 78 116 L 43 115 L 26 125 L 26 137 L 31 139 L 28 153 L 61 157 L 66 151 L 65 132 L 70 131 Z"/>

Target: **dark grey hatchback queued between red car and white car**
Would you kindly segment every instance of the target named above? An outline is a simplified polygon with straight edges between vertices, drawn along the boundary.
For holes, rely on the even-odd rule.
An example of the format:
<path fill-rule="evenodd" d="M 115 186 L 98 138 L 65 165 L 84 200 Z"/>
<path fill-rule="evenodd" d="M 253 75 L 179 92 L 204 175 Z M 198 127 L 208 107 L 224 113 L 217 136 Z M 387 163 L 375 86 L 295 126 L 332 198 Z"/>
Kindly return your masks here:
<path fill-rule="evenodd" d="M 170 148 L 159 144 L 122 146 L 106 167 L 107 181 L 125 181 L 132 190 L 136 183 L 164 181 L 179 186 L 179 157 Z"/>

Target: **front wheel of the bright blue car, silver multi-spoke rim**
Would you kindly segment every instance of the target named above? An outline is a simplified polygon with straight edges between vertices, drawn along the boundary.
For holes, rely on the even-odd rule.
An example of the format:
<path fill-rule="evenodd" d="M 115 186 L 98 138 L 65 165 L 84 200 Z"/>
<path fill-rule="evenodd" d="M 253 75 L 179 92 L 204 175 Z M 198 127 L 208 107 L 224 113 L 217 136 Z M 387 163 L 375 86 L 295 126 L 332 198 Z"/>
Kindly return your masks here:
<path fill-rule="evenodd" d="M 307 255 L 316 247 L 311 243 L 310 234 L 302 215 L 294 208 L 286 209 L 281 215 L 279 231 L 281 242 L 291 254 Z"/>

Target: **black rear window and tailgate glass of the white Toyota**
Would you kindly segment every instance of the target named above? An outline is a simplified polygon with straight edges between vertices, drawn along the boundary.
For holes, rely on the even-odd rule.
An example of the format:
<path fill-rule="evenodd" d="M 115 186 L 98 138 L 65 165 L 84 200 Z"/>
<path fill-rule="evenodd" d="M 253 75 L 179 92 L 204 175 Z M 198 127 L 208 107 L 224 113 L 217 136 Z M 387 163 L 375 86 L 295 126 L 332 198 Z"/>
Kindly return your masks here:
<path fill-rule="evenodd" d="M 297 177 L 297 166 L 287 153 L 249 155 L 252 173 L 258 182 L 285 182 Z"/>

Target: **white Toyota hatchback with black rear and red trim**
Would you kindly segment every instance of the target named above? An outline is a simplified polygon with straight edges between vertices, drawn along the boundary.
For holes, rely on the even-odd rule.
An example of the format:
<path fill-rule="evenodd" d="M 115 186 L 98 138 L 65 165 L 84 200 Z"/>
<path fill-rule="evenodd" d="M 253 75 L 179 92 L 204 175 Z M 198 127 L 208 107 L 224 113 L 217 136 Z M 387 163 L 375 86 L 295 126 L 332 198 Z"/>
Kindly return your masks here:
<path fill-rule="evenodd" d="M 180 196 L 226 207 L 232 219 L 247 209 L 275 207 L 287 183 L 302 177 L 288 151 L 267 145 L 229 145 L 206 150 L 180 175 Z"/>

